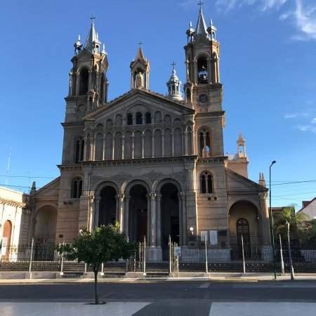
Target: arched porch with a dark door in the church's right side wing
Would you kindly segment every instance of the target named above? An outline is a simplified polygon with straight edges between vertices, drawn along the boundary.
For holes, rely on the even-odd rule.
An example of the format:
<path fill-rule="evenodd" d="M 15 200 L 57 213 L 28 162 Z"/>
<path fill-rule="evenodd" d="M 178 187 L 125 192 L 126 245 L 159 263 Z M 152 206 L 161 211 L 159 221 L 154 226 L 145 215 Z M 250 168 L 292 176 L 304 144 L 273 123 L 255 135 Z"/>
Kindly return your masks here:
<path fill-rule="evenodd" d="M 260 246 L 258 209 L 248 201 L 239 201 L 230 207 L 229 216 L 230 246 L 235 256 L 242 255 L 242 237 L 246 257 L 251 257 L 252 249 Z"/>

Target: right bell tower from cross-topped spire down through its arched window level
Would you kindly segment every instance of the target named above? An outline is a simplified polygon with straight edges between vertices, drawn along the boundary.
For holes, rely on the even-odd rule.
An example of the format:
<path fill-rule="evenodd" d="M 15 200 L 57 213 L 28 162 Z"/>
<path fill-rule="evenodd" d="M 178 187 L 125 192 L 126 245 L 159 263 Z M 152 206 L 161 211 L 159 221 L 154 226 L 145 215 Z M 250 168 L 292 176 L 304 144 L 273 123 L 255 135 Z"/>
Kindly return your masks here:
<path fill-rule="evenodd" d="M 201 159 L 223 157 L 223 127 L 225 118 L 222 109 L 223 86 L 220 84 L 220 44 L 216 39 L 217 29 L 210 20 L 206 27 L 199 1 L 199 15 L 195 29 L 190 22 L 185 45 L 185 105 L 195 112 L 197 155 Z"/>

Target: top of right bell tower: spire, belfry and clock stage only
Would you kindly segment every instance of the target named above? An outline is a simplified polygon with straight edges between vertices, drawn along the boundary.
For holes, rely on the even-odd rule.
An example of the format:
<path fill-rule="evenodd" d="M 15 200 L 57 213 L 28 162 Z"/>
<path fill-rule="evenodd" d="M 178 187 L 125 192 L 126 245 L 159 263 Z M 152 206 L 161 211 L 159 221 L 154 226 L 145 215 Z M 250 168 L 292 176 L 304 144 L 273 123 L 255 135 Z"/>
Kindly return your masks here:
<path fill-rule="evenodd" d="M 210 20 L 206 27 L 202 2 L 195 29 L 190 22 L 185 46 L 185 102 L 197 112 L 221 110 L 222 85 L 219 75 L 220 44 L 217 29 Z"/>

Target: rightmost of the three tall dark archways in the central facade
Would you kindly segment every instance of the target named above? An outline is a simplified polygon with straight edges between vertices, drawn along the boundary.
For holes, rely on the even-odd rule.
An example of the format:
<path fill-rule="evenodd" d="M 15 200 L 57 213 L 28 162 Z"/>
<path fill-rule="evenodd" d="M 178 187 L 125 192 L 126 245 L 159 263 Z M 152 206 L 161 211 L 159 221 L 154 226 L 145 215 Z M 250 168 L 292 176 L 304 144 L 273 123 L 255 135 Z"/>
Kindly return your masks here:
<path fill-rule="evenodd" d="M 172 242 L 180 242 L 180 223 L 179 223 L 179 198 L 178 187 L 173 183 L 166 183 L 162 186 L 162 256 L 163 260 L 168 259 L 169 236 Z"/>

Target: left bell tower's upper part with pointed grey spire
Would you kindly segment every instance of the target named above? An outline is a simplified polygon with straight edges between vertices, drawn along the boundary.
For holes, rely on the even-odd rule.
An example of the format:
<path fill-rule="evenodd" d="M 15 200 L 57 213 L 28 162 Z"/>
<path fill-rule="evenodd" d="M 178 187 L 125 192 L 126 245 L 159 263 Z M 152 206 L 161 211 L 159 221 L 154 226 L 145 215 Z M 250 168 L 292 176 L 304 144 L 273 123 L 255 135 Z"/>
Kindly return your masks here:
<path fill-rule="evenodd" d="M 84 44 L 80 35 L 74 43 L 66 121 L 80 121 L 86 113 L 107 103 L 107 52 L 96 32 L 94 19 L 91 18 Z"/>

